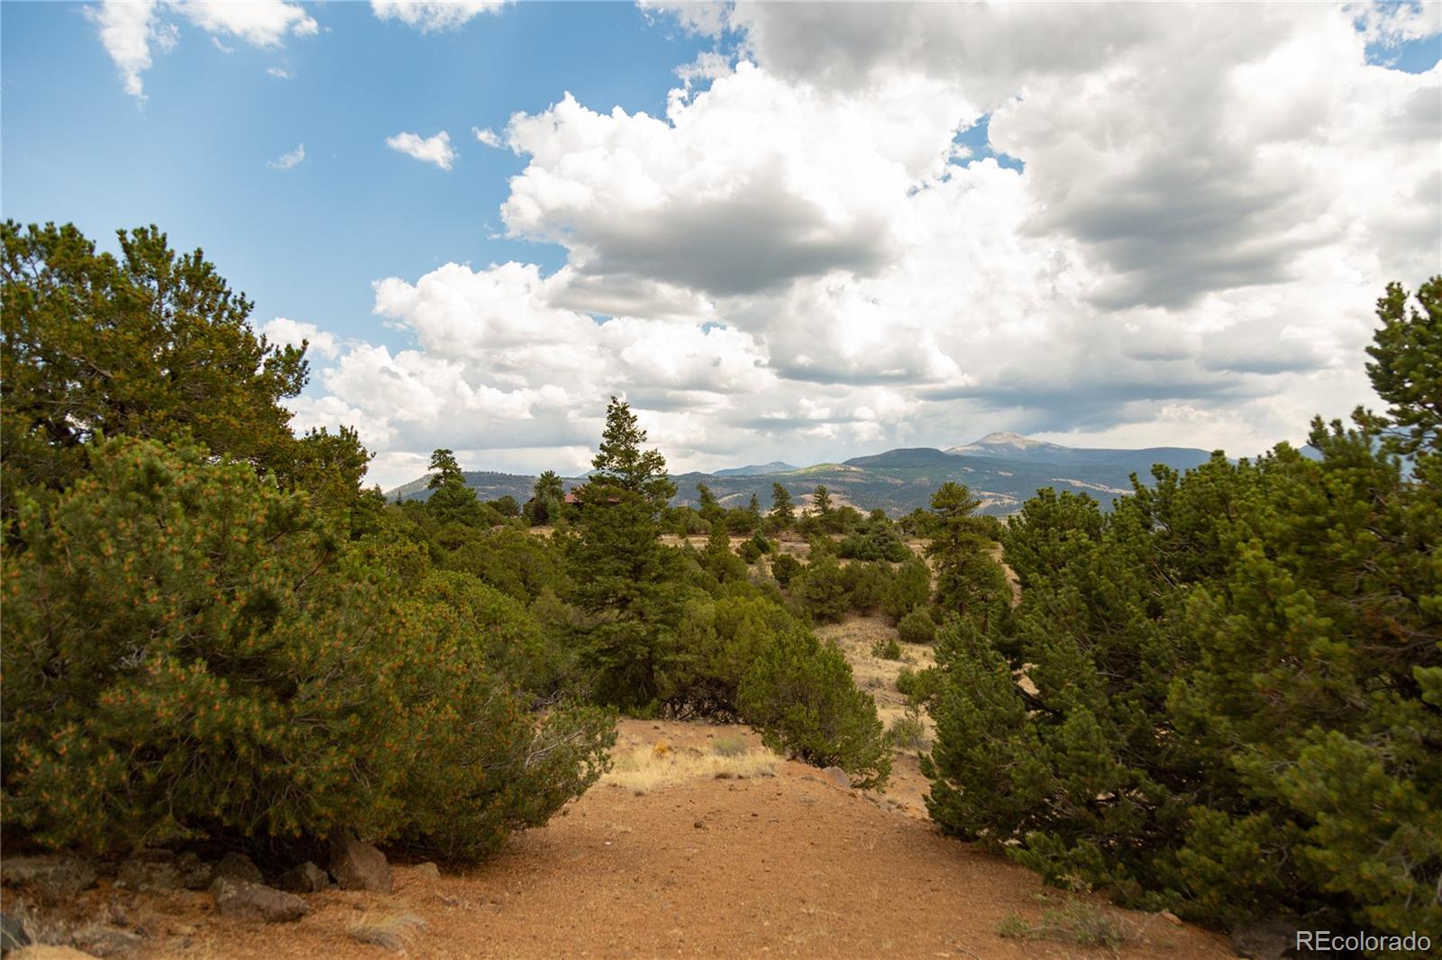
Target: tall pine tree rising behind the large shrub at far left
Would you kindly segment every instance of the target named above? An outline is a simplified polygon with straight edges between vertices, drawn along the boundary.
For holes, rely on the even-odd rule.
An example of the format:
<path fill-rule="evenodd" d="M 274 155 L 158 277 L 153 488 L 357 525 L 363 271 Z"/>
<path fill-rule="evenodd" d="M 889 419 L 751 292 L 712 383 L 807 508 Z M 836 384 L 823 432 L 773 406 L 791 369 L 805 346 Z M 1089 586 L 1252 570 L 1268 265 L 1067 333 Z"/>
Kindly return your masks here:
<path fill-rule="evenodd" d="M 296 484 L 284 401 L 306 385 L 304 346 L 257 336 L 202 251 L 177 255 L 154 226 L 120 231 L 118 258 L 72 225 L 6 221 L 0 239 L 6 510 L 17 489 L 74 483 L 102 435 L 187 437 Z"/>

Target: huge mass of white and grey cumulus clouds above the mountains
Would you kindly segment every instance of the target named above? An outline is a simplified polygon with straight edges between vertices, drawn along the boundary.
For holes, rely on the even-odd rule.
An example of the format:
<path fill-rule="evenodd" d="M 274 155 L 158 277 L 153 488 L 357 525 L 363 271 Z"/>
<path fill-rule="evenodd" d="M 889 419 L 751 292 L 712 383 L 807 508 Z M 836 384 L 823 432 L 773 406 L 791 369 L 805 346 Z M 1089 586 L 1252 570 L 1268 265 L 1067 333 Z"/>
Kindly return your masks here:
<path fill-rule="evenodd" d="M 1368 53 L 1438 32 L 1407 10 L 682 7 L 740 53 L 663 115 L 473 131 L 526 163 L 506 232 L 565 265 L 379 281 L 411 343 L 339 346 L 307 415 L 365 424 L 382 483 L 434 447 L 584 468 L 611 394 L 678 470 L 1296 440 L 1376 405 L 1373 303 L 1442 261 L 1442 68 Z"/>

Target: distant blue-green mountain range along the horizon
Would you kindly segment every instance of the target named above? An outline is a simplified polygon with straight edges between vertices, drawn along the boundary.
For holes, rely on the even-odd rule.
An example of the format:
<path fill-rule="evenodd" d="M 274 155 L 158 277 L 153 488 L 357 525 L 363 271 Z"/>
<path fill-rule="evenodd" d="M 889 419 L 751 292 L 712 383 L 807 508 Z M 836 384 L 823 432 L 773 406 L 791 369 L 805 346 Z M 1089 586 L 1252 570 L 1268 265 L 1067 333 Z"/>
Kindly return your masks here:
<path fill-rule="evenodd" d="M 926 506 L 939 486 L 955 480 L 981 497 L 983 513 L 1007 515 L 1041 487 L 1086 492 L 1109 506 L 1116 497 L 1131 493 L 1133 473 L 1146 480 L 1152 464 L 1187 470 L 1210 457 L 1206 450 L 1188 447 L 1092 450 L 1048 444 L 1019 434 L 991 434 L 949 450 L 898 448 L 845 463 L 793 467 L 774 461 L 714 473 L 682 473 L 671 479 L 676 484 L 673 503 L 678 505 L 696 503 L 698 483 L 711 487 L 724 506 L 746 506 L 754 493 L 763 507 L 770 507 L 773 483 L 780 483 L 802 505 L 818 484 L 825 484 L 836 503 L 849 503 L 859 510 L 881 507 L 893 516 Z M 420 477 L 388 492 L 386 497 L 425 499 L 430 496 L 425 483 L 427 479 Z M 535 477 L 467 471 L 466 483 L 483 500 L 510 494 L 525 502 L 531 497 Z M 574 487 L 585 479 L 570 477 L 565 483 Z"/>

